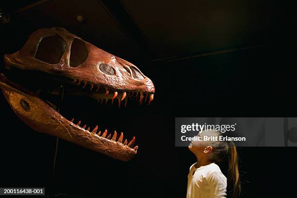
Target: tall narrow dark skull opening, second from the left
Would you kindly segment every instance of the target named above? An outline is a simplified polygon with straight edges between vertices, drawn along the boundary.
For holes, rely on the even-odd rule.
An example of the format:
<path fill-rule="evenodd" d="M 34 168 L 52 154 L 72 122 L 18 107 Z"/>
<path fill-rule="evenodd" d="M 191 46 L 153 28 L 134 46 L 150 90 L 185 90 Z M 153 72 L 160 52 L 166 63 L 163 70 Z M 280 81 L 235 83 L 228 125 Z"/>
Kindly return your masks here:
<path fill-rule="evenodd" d="M 77 67 L 84 63 L 88 57 L 88 50 L 85 47 L 85 42 L 81 39 L 75 38 L 70 48 L 69 66 Z"/>

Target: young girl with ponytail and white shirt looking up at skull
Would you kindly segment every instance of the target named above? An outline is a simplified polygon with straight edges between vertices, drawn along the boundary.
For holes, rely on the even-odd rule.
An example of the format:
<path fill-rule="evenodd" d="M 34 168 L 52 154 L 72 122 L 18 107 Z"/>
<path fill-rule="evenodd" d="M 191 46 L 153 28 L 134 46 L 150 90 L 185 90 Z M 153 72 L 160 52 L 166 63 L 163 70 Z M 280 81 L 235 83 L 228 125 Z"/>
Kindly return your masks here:
<path fill-rule="evenodd" d="M 203 131 L 198 134 L 202 141 L 192 141 L 189 145 L 197 157 L 197 163 L 190 167 L 187 198 L 226 198 L 228 185 L 233 184 L 233 196 L 240 193 L 237 151 L 232 141 L 219 141 L 223 135 L 217 131 Z M 217 137 L 203 141 L 204 136 Z M 214 141 L 213 141 L 214 140 Z M 228 180 L 217 163 L 229 156 Z"/>

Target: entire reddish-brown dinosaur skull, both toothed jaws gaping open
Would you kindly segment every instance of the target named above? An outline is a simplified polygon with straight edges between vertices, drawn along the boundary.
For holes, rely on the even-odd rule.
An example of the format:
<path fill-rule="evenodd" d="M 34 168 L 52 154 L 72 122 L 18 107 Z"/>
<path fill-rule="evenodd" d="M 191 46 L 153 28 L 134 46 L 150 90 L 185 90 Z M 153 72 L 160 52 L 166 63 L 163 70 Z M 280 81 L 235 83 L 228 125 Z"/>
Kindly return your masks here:
<path fill-rule="evenodd" d="M 75 92 L 94 99 L 121 101 L 138 96 L 143 103 L 153 99 L 155 88 L 136 66 L 82 40 L 63 28 L 40 29 L 34 32 L 23 49 L 5 54 L 7 69 L 39 71 L 59 76 L 65 82 L 82 88 Z M 3 75 L 0 88 L 5 99 L 21 120 L 38 132 L 63 138 L 115 159 L 128 161 L 137 153 L 135 138 L 123 141 L 123 133 L 111 137 L 107 131 L 98 132 L 80 127 L 60 115 L 48 102 L 38 98 Z M 124 101 L 123 101 L 124 102 Z"/>

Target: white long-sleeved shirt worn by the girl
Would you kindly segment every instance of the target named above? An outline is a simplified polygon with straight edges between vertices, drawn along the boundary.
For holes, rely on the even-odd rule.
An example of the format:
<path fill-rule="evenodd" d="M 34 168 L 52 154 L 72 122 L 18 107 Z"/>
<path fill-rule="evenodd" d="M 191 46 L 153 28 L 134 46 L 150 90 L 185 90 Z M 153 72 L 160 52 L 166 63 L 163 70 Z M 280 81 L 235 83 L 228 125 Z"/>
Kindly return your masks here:
<path fill-rule="evenodd" d="M 196 164 L 190 167 L 187 198 L 226 198 L 227 178 L 219 166 L 211 163 L 195 168 Z"/>

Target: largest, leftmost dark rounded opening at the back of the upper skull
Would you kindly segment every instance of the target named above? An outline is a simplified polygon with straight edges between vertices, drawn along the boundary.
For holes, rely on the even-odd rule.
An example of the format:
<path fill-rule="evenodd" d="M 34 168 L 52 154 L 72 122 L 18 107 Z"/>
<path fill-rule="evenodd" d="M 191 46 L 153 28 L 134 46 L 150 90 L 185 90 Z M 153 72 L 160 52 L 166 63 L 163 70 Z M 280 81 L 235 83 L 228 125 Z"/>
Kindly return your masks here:
<path fill-rule="evenodd" d="M 35 58 L 49 64 L 57 64 L 65 50 L 66 42 L 61 36 L 47 36 L 40 41 Z"/>

